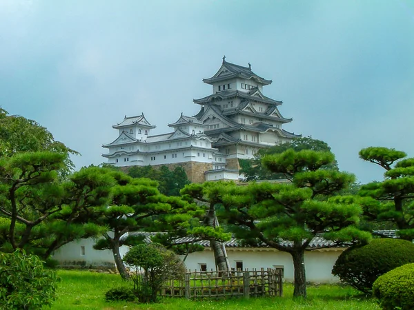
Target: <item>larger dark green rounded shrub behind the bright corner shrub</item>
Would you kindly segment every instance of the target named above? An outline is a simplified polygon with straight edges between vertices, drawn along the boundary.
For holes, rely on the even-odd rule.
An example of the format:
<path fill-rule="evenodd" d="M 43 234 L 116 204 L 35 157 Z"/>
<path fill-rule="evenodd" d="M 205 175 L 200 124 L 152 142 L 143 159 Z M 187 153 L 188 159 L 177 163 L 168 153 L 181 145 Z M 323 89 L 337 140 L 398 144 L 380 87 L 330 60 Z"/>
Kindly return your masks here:
<path fill-rule="evenodd" d="M 373 239 L 368 245 L 350 247 L 337 259 L 332 273 L 342 282 L 371 293 L 379 276 L 414 262 L 414 244 L 401 239 Z"/>

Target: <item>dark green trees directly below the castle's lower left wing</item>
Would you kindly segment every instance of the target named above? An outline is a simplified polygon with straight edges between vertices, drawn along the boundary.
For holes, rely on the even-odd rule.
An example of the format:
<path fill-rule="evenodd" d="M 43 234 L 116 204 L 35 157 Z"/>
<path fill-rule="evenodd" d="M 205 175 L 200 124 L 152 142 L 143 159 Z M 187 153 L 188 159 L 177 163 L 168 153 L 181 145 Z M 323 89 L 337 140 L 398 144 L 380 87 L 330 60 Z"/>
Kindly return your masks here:
<path fill-rule="evenodd" d="M 128 170 L 132 178 L 150 178 L 159 183 L 159 192 L 166 196 L 179 196 L 179 191 L 190 184 L 186 172 L 182 167 L 175 167 L 174 170 L 162 165 L 159 169 L 148 166 L 134 166 Z"/>

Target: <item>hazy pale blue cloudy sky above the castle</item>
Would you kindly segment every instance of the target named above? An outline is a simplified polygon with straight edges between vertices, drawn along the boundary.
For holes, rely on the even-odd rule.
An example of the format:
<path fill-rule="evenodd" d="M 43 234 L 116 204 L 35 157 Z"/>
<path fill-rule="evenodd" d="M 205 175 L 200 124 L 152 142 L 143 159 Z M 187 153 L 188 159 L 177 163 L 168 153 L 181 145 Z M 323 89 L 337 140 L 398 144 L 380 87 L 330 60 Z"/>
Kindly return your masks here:
<path fill-rule="evenodd" d="M 77 169 L 105 161 L 125 115 L 161 134 L 197 114 L 224 55 L 359 182 L 383 177 L 359 149 L 414 157 L 414 0 L 0 0 L 0 105 L 80 152 Z"/>

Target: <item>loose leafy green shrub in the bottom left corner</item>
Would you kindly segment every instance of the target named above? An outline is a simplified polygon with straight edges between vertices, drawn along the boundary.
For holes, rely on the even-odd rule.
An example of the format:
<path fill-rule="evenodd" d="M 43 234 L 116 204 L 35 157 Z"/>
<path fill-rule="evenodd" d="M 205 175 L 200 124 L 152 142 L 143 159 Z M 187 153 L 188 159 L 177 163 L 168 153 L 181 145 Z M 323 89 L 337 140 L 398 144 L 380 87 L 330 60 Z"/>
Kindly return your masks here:
<path fill-rule="evenodd" d="M 56 299 L 57 276 L 22 250 L 0 254 L 0 309 L 40 309 Z"/>

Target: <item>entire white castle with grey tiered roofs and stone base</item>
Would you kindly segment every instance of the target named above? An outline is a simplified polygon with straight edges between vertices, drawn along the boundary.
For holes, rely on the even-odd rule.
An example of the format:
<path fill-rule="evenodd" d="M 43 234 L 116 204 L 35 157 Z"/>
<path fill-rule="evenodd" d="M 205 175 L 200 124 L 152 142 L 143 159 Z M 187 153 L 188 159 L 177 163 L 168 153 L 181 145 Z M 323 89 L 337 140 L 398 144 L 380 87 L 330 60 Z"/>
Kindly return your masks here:
<path fill-rule="evenodd" d="M 282 129 L 292 121 L 284 118 L 277 107 L 282 101 L 262 93 L 272 83 L 248 67 L 226 61 L 204 83 L 213 85 L 213 93 L 193 100 L 201 105 L 195 116 L 181 114 L 168 126 L 172 132 L 151 135 L 155 128 L 145 118 L 125 116 L 112 127 L 118 138 L 103 145 L 108 163 L 117 167 L 133 165 L 180 166 L 190 181 L 237 180 L 239 158 L 252 158 L 258 149 L 291 141 L 298 137 Z"/>

